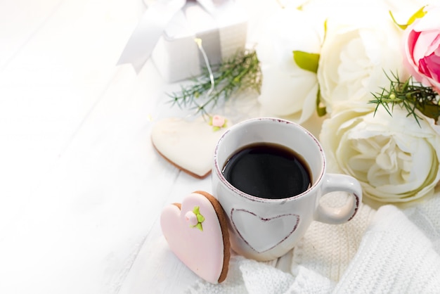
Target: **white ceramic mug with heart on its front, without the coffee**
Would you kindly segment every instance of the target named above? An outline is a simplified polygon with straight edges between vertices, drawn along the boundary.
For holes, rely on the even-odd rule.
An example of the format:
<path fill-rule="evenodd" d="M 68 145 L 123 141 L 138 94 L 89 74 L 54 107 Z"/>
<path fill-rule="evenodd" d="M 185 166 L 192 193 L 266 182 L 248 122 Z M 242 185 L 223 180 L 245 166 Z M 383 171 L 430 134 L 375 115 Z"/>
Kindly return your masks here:
<path fill-rule="evenodd" d="M 243 146 L 261 142 L 277 143 L 301 155 L 309 166 L 311 186 L 297 196 L 266 199 L 231 185 L 222 174 L 228 159 Z M 327 174 L 325 165 L 321 144 L 294 122 L 264 117 L 228 129 L 214 151 L 212 188 L 228 217 L 231 248 L 254 260 L 273 260 L 291 250 L 313 220 L 342 224 L 353 218 L 362 200 L 361 185 L 344 174 Z M 320 203 L 322 196 L 335 191 L 350 193 L 349 201 L 335 208 Z"/>

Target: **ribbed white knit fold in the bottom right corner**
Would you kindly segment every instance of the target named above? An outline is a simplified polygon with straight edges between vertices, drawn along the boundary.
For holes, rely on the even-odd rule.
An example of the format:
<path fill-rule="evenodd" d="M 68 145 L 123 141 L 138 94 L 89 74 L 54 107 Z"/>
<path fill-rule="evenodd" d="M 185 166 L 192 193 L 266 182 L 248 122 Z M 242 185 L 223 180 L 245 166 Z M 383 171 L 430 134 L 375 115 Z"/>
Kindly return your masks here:
<path fill-rule="evenodd" d="M 392 205 L 381 207 L 335 293 L 439 293 L 440 256 Z"/>

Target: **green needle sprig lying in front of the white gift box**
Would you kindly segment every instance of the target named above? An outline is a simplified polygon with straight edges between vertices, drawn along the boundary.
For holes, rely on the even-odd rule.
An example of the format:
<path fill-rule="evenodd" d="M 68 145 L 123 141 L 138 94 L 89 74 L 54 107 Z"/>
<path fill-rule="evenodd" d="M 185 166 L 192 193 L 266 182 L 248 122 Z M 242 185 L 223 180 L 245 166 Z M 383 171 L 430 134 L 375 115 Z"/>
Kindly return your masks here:
<path fill-rule="evenodd" d="M 193 78 L 193 84 L 181 86 L 179 92 L 169 94 L 172 105 L 180 108 L 193 108 L 196 114 L 207 115 L 220 101 L 228 100 L 235 92 L 252 89 L 260 92 L 261 68 L 257 52 L 254 50 L 238 51 L 234 56 L 219 65 L 212 66 L 211 72 L 202 68 L 202 74 Z"/>

